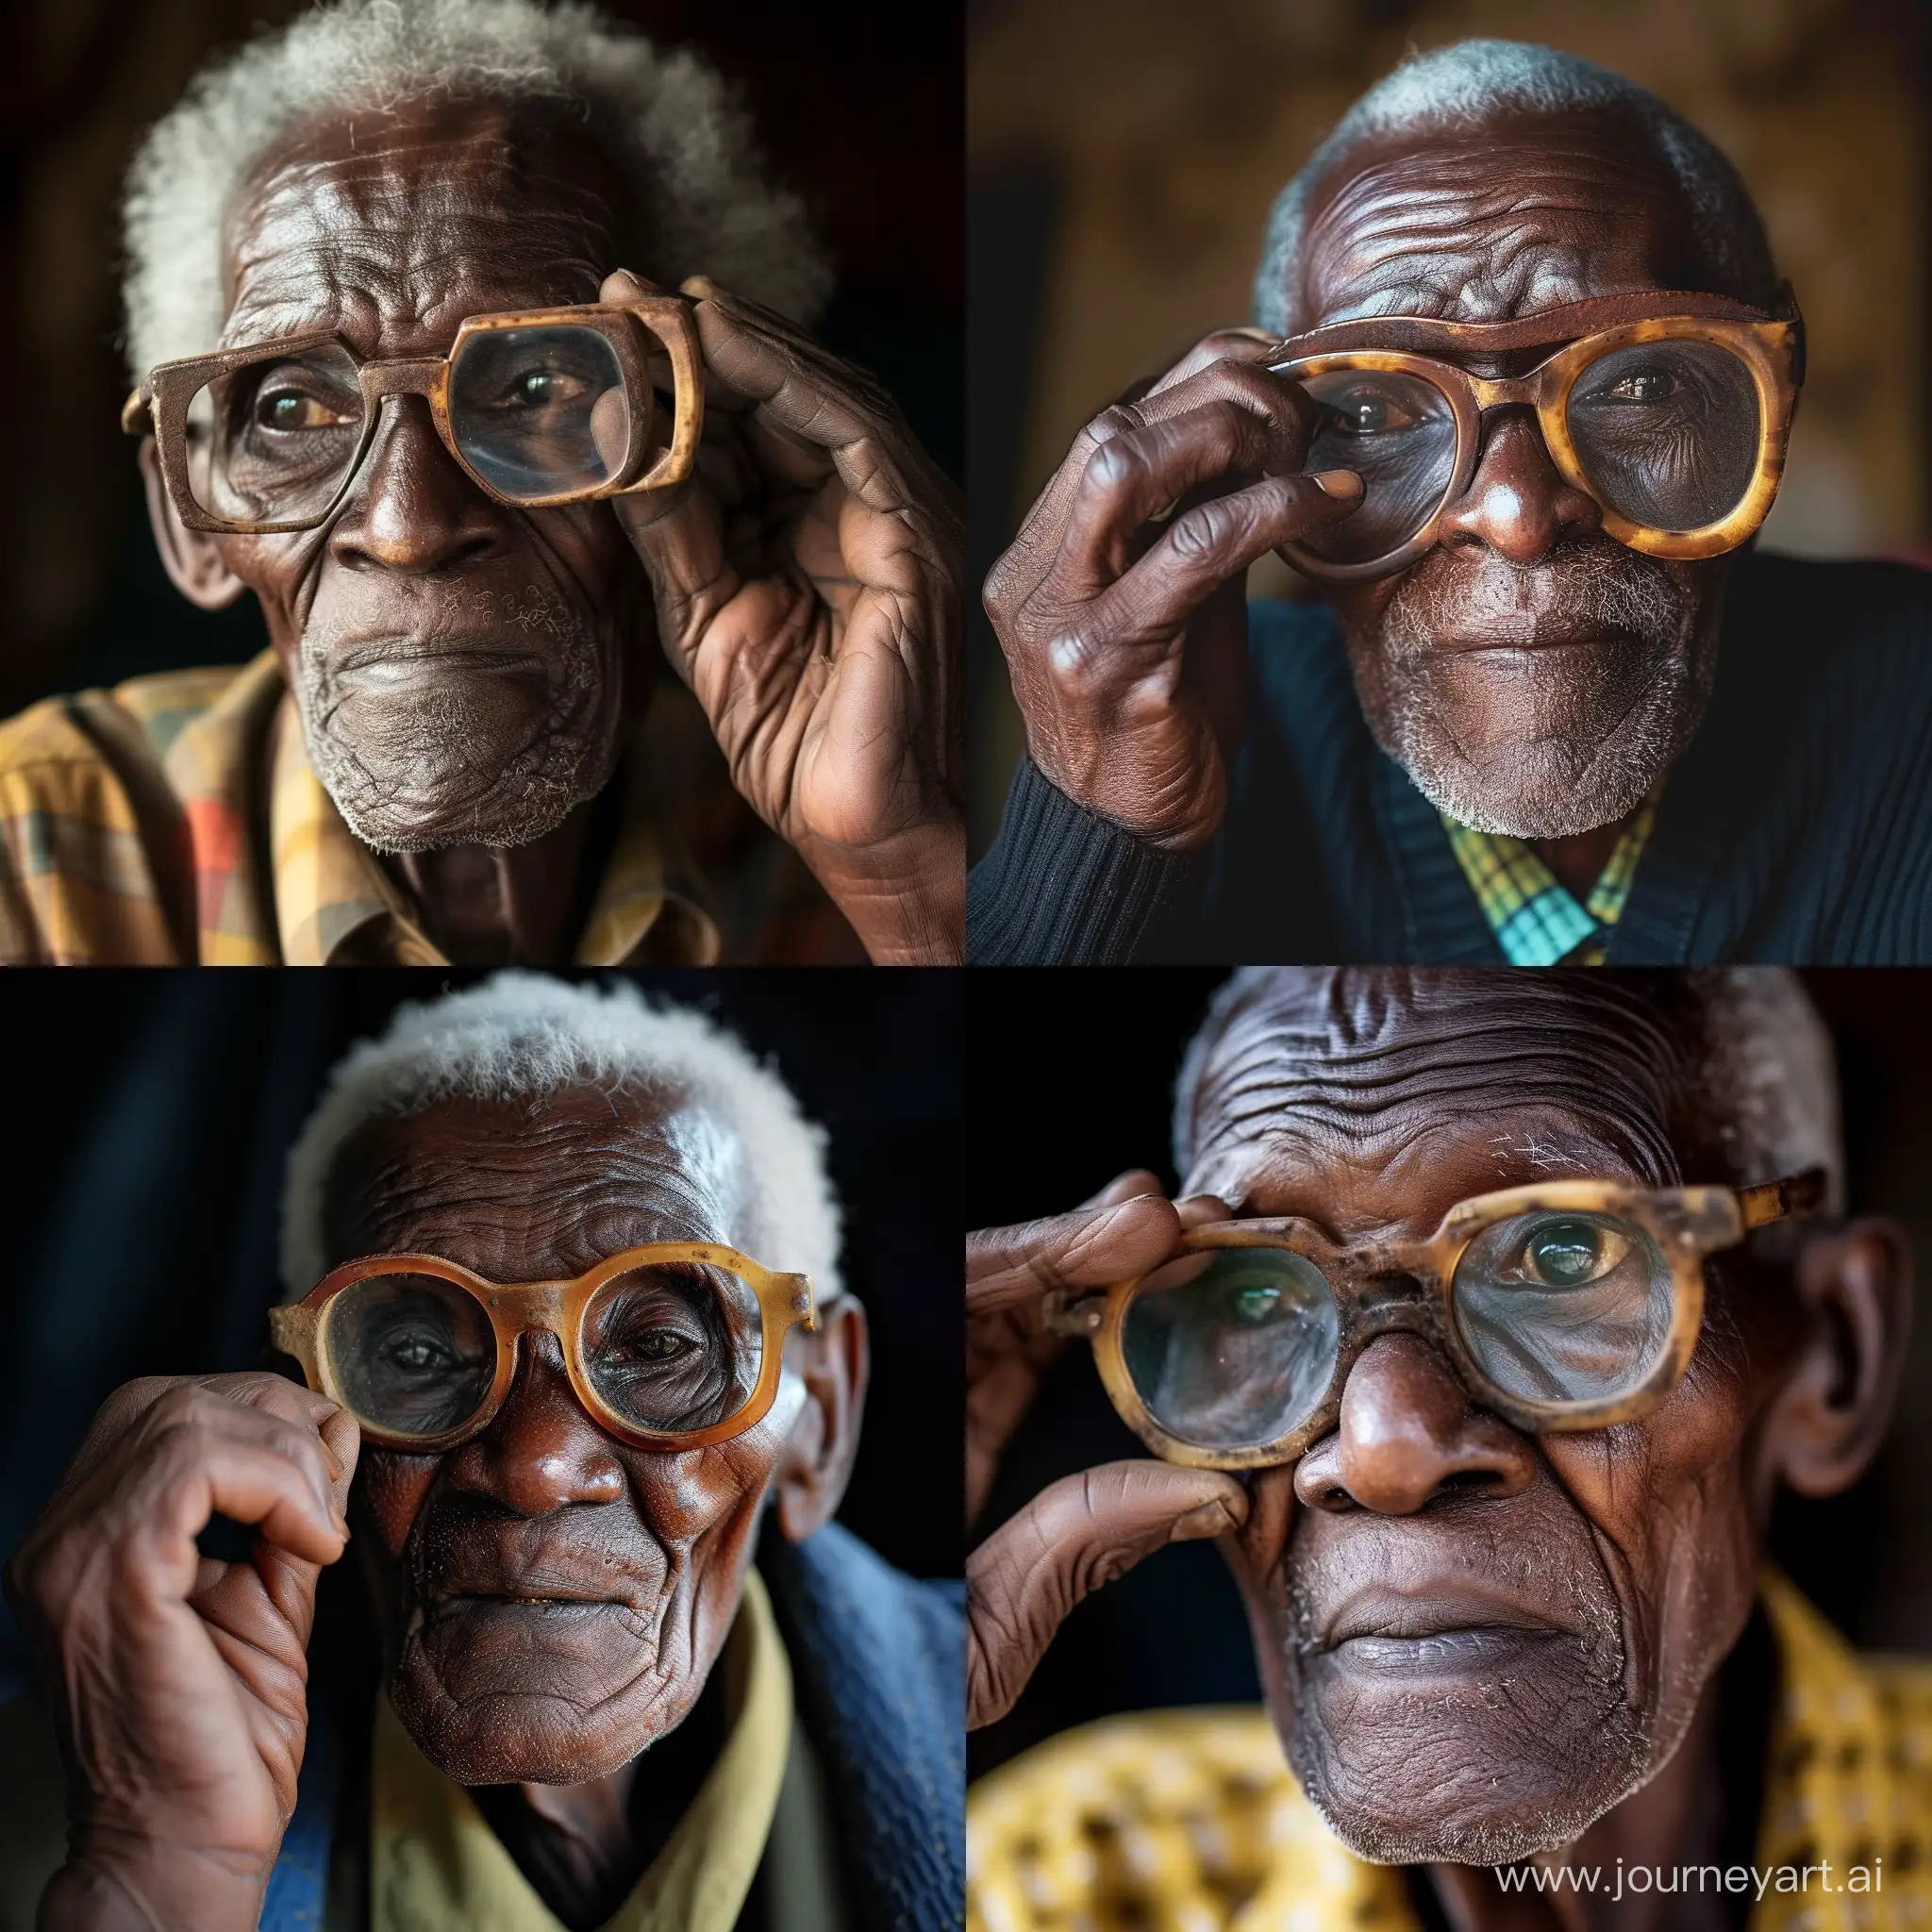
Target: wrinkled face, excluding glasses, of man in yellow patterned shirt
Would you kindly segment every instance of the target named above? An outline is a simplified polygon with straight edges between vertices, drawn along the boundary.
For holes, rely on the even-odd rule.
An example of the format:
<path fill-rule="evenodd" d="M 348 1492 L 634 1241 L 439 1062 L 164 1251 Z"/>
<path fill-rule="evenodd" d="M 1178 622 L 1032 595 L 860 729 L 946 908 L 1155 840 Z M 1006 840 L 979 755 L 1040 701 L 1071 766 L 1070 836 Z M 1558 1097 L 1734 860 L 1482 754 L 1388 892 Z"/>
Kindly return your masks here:
<path fill-rule="evenodd" d="M 1725 1179 L 1679 1173 L 1656 1030 L 1515 978 L 1304 976 L 1252 1001 L 1202 1072 L 1184 1192 L 1420 1240 L 1490 1188 Z M 1236 1575 L 1262 1677 L 1350 1849 L 1522 1859 L 1675 1750 L 1752 1602 L 1750 1428 L 1793 1318 L 1762 1267 L 1748 1289 L 1745 1327 L 1714 1279 L 1689 1374 L 1640 1422 L 1519 1434 L 1447 1356 L 1381 1335 L 1337 1428 L 1256 1474 Z"/>

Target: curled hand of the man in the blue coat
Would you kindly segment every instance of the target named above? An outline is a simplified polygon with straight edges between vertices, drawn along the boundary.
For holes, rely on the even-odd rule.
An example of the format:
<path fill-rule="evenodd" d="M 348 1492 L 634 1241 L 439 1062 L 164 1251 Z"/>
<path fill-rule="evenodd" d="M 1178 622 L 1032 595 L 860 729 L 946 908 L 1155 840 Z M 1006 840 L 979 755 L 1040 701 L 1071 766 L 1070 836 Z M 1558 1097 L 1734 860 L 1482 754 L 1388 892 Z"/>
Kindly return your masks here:
<path fill-rule="evenodd" d="M 68 1764 L 56 1926 L 253 1928 L 296 1808 L 315 1578 L 348 1542 L 354 1418 L 280 1376 L 131 1381 L 8 1565 Z M 220 1511 L 253 1559 L 195 1536 Z"/>

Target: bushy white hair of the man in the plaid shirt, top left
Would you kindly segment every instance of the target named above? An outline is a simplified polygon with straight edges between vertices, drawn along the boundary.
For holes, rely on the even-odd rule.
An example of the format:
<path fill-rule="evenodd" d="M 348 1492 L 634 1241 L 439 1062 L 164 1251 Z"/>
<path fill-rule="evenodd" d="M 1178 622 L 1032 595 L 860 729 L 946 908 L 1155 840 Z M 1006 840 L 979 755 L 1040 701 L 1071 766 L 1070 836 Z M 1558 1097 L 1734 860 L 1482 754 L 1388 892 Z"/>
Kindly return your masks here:
<path fill-rule="evenodd" d="M 665 288 L 690 274 L 810 321 L 831 270 L 796 195 L 767 178 L 752 124 L 699 56 L 663 52 L 595 8 L 537 0 L 332 0 L 216 60 L 149 129 L 124 205 L 128 359 L 216 346 L 236 191 L 286 129 L 319 112 L 425 97 L 562 108 L 647 211 L 636 263 Z"/>

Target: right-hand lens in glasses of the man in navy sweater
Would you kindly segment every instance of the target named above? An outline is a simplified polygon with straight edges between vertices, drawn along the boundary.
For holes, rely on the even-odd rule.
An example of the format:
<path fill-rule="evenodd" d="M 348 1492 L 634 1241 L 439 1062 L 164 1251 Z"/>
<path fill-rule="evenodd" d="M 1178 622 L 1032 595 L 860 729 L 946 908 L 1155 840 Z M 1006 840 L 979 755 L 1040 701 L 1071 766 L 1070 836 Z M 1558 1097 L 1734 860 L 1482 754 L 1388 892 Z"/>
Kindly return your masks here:
<path fill-rule="evenodd" d="M 1569 431 L 1590 489 L 1619 516 L 1702 529 L 1729 516 L 1758 473 L 1758 386 L 1716 342 L 1633 342 L 1577 379 Z"/>

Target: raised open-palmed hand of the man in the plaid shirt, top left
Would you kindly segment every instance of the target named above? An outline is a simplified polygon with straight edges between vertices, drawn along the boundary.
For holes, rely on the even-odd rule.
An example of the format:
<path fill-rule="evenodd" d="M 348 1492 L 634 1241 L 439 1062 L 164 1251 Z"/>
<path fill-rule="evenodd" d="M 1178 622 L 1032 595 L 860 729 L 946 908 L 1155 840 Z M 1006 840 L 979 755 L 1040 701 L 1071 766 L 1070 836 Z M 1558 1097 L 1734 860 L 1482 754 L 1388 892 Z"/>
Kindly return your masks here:
<path fill-rule="evenodd" d="M 649 284 L 618 272 L 605 301 Z M 690 481 L 614 497 L 757 815 L 879 962 L 966 945 L 962 522 L 893 400 L 781 315 L 684 284 L 705 359 Z"/>

